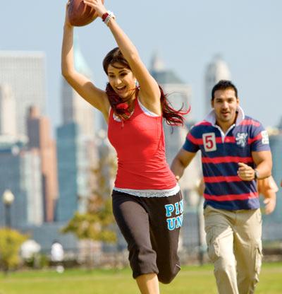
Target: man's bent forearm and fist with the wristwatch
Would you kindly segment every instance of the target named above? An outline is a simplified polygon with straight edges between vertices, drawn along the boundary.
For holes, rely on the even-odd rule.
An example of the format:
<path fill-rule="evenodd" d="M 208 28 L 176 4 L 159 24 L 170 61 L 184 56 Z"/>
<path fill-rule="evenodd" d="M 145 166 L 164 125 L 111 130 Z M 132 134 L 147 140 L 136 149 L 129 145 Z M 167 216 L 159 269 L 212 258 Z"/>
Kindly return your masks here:
<path fill-rule="evenodd" d="M 252 159 L 255 162 L 256 168 L 253 169 L 245 163 L 238 163 L 238 176 L 243 181 L 255 180 L 255 170 L 257 170 L 257 180 L 271 176 L 272 158 L 270 151 L 253 151 Z"/>

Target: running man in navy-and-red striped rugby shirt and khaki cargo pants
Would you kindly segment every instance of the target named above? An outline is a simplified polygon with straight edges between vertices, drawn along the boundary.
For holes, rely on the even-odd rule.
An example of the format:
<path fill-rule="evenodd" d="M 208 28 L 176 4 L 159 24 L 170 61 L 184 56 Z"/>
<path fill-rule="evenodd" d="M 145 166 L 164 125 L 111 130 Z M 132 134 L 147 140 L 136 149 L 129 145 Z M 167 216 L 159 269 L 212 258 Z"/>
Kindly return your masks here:
<path fill-rule="evenodd" d="M 190 130 L 171 170 L 179 179 L 198 150 L 204 175 L 208 254 L 220 294 L 254 293 L 262 264 L 262 216 L 257 179 L 271 175 L 266 131 L 245 116 L 237 88 L 219 81 L 212 112 Z"/>

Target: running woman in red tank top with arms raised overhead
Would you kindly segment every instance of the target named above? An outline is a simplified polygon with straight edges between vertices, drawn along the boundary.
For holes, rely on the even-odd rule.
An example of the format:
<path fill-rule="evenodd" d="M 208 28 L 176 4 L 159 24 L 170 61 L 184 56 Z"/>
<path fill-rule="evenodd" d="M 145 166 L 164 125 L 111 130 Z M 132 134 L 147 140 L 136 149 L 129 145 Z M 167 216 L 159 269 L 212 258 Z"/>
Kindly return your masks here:
<path fill-rule="evenodd" d="M 101 90 L 73 66 L 73 27 L 68 13 L 63 33 L 62 73 L 68 83 L 102 112 L 118 154 L 113 211 L 128 242 L 130 266 L 141 293 L 159 293 L 180 270 L 178 235 L 183 217 L 179 186 L 164 153 L 162 119 L 183 124 L 142 63 L 137 49 L 101 0 L 85 0 L 109 26 L 118 47 L 103 62 L 109 78 Z M 137 85 L 139 85 L 137 87 Z"/>

